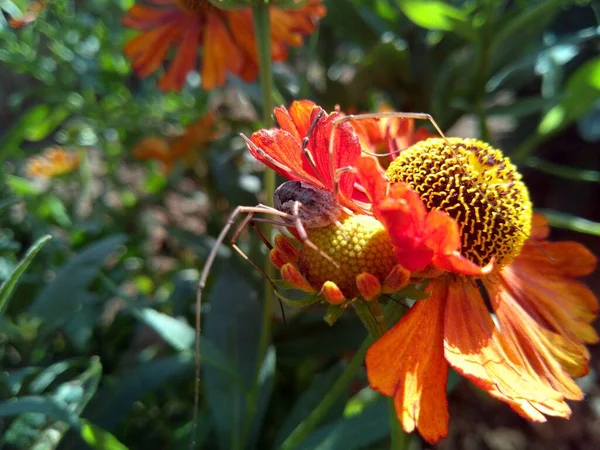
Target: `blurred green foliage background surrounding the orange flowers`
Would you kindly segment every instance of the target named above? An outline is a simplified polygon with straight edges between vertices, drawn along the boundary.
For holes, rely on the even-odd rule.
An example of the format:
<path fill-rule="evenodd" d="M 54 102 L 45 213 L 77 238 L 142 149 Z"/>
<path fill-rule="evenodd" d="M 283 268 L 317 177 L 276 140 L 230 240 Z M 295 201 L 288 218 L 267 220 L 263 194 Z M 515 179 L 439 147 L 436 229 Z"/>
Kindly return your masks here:
<path fill-rule="evenodd" d="M 430 113 L 449 135 L 482 137 L 518 164 L 553 238 L 600 254 L 597 2 L 325 4 L 318 31 L 275 65 L 277 103 L 387 104 Z M 155 78 L 136 78 L 123 55 L 132 5 L 56 0 L 13 28 L 30 4 L 0 0 L 0 449 L 187 448 L 198 270 L 227 213 L 262 199 L 263 167 L 238 137 L 261 126 L 258 83 L 230 77 L 204 92 L 191 73 L 166 94 Z M 209 111 L 214 139 L 184 139 L 168 167 L 134 151 L 148 137 L 176 142 Z M 31 158 L 57 146 L 78 166 L 34 176 Z M 242 243 L 264 258 L 257 242 Z M 598 292 L 598 272 L 587 281 Z M 262 287 L 224 246 L 202 308 L 197 448 L 280 448 L 365 337 L 351 314 L 329 327 L 321 307 L 286 310 L 253 385 Z M 456 379 L 450 435 L 435 447 L 600 448 L 600 351 L 591 351 L 587 398 L 570 421 L 527 423 Z M 360 372 L 296 448 L 387 448 L 385 401 L 366 386 Z M 427 447 L 416 435 L 411 445 Z"/>

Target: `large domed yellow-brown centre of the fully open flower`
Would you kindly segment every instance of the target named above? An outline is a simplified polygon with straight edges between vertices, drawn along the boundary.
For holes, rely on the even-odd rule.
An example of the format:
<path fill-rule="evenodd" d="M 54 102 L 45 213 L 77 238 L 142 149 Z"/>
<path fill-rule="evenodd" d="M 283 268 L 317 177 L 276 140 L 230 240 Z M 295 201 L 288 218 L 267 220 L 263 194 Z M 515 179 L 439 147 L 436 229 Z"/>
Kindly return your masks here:
<path fill-rule="evenodd" d="M 392 162 L 390 181 L 408 183 L 428 210 L 454 218 L 462 236 L 461 253 L 497 268 L 517 256 L 531 232 L 532 207 L 521 174 L 510 160 L 476 139 L 428 139 Z"/>

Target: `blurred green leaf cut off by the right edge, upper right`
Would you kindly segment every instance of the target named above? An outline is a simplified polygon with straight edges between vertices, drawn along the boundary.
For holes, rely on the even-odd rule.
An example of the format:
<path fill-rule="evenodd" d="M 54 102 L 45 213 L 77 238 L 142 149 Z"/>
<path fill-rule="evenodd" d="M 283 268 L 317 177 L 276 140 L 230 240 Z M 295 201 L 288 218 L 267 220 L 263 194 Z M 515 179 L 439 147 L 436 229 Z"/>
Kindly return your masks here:
<path fill-rule="evenodd" d="M 600 56 L 579 67 L 566 83 L 560 102 L 543 117 L 538 135 L 563 129 L 587 113 L 600 98 Z"/>

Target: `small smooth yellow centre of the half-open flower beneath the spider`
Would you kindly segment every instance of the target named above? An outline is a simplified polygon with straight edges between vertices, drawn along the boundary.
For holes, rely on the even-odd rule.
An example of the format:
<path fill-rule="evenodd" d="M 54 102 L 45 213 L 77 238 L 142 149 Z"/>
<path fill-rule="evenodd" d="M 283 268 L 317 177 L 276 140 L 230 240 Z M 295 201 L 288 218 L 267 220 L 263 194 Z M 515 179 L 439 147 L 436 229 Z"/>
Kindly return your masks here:
<path fill-rule="evenodd" d="M 333 259 L 335 267 L 307 245 L 300 253 L 300 272 L 315 289 L 333 281 L 347 298 L 359 296 L 356 276 L 363 272 L 383 282 L 396 264 L 390 238 L 383 225 L 366 215 L 345 216 L 337 224 L 310 231 L 310 240 Z"/>

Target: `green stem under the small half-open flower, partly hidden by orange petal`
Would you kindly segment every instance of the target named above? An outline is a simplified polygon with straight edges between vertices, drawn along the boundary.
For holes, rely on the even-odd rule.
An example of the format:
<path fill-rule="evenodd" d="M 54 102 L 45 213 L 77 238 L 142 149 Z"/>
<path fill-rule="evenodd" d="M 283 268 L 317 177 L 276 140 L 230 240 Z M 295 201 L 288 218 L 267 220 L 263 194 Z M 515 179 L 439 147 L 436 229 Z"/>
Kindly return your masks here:
<path fill-rule="evenodd" d="M 373 341 L 385 334 L 387 331 L 387 322 L 385 321 L 381 306 L 377 300 L 371 300 L 369 302 L 357 300 L 352 305 Z M 388 398 L 388 417 L 390 420 L 390 448 L 392 450 L 404 450 L 408 448 L 410 444 L 410 435 L 405 433 L 400 426 L 400 421 L 396 416 L 393 398 Z"/>

